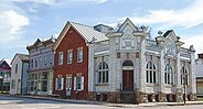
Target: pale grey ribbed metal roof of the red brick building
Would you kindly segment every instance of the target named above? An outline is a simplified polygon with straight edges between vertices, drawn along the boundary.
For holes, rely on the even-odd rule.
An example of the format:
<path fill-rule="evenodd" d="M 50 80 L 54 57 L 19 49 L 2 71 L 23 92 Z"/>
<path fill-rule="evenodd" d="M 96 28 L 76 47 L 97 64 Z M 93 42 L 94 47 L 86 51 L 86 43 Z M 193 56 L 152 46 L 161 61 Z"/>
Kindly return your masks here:
<path fill-rule="evenodd" d="M 70 22 L 71 25 L 87 41 L 92 42 L 95 39 L 95 42 L 106 41 L 108 37 L 105 33 L 96 31 L 93 26 Z"/>

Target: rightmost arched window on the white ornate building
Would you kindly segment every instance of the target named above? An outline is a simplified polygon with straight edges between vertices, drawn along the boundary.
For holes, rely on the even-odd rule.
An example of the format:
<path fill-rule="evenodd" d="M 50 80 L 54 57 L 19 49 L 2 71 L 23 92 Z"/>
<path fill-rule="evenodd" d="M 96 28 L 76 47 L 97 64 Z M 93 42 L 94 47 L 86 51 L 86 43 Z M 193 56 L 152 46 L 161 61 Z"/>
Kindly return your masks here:
<path fill-rule="evenodd" d="M 189 84 L 189 73 L 185 67 L 182 67 L 181 68 L 181 85 L 183 85 L 184 83 L 185 85 Z"/>

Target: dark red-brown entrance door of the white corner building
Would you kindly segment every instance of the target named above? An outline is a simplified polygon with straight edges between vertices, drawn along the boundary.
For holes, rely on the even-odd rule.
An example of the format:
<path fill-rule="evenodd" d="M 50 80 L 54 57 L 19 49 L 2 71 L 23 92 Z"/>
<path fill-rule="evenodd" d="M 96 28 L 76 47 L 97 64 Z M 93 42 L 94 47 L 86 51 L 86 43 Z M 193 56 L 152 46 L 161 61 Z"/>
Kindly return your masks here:
<path fill-rule="evenodd" d="M 122 90 L 133 91 L 133 70 L 122 70 Z"/>

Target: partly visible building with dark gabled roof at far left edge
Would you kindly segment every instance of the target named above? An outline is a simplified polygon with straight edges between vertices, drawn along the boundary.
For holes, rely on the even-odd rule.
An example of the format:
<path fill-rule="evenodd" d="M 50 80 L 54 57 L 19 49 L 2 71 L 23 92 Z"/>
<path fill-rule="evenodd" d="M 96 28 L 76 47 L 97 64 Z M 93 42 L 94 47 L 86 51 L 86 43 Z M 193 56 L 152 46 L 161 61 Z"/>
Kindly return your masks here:
<path fill-rule="evenodd" d="M 11 67 L 7 61 L 0 61 L 0 91 L 9 92 L 10 90 L 10 78 L 11 78 Z"/>

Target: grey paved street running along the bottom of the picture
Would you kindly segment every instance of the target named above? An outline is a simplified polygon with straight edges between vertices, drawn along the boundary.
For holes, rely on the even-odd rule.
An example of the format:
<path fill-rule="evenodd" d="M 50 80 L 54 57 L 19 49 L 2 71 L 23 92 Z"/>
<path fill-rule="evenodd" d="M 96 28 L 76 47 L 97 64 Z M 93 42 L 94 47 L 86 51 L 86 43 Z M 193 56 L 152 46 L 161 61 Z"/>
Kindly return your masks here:
<path fill-rule="evenodd" d="M 4 97 L 0 96 L 0 109 L 203 109 L 202 105 L 189 106 L 156 106 L 138 107 L 136 105 L 124 105 L 125 107 L 108 105 L 71 103 L 54 100 Z"/>

